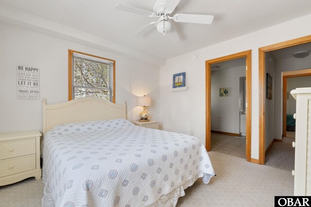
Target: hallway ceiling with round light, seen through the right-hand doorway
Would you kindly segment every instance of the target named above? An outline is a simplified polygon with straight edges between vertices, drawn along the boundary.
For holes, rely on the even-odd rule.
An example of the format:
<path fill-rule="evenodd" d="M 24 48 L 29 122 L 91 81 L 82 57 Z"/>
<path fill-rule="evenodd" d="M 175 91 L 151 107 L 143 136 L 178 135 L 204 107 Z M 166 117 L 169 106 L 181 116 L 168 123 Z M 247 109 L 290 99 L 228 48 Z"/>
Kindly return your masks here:
<path fill-rule="evenodd" d="M 311 50 L 311 43 L 305 43 L 289 48 L 274 50 L 271 52 L 267 52 L 267 55 L 271 55 L 274 60 L 280 60 L 285 58 L 293 58 L 294 56 L 292 54 L 301 50 Z"/>

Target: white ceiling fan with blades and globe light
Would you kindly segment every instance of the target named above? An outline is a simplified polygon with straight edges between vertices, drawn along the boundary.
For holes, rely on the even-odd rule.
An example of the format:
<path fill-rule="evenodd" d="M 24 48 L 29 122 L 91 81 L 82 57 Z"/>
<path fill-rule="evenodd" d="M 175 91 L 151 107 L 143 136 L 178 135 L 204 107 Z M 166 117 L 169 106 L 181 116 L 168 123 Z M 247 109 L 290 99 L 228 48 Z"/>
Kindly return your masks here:
<path fill-rule="evenodd" d="M 211 24 L 214 16 L 212 15 L 192 15 L 192 14 L 175 14 L 170 16 L 175 10 L 180 0 L 155 0 L 153 12 L 138 9 L 135 7 L 124 6 L 117 4 L 115 9 L 135 13 L 138 15 L 144 15 L 149 17 L 159 17 L 157 21 L 149 23 L 147 26 L 139 30 L 134 36 L 139 37 L 154 27 L 157 31 L 165 35 L 167 32 L 172 32 L 173 36 L 179 40 L 179 35 L 176 30 L 172 30 L 173 25 L 169 21 L 173 19 L 175 22 L 187 22 L 187 23 L 198 23 L 198 24 Z"/>

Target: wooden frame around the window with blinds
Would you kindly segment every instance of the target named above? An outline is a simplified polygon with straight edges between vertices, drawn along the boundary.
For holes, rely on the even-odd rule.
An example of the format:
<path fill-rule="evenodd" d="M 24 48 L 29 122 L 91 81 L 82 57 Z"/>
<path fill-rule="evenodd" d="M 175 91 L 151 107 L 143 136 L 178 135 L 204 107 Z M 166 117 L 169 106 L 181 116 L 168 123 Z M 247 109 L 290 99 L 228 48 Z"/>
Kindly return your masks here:
<path fill-rule="evenodd" d="M 71 50 L 69 49 L 68 50 L 68 100 L 72 100 L 72 89 L 73 89 L 73 86 L 72 86 L 72 83 L 73 83 L 73 80 L 72 80 L 72 75 L 73 75 L 73 72 L 72 72 L 72 61 L 73 61 L 73 53 L 79 53 L 79 54 L 82 54 L 82 55 L 87 55 L 87 56 L 90 56 L 90 57 L 95 57 L 95 58 L 99 58 L 99 59 L 104 59 L 104 60 L 107 60 L 107 61 L 111 61 L 113 62 L 113 74 L 112 74 L 112 103 L 116 103 L 116 61 L 115 60 L 111 60 L 111 59 L 107 59 L 107 58 L 103 58 L 103 57 L 99 57 L 99 56 L 96 56 L 96 55 L 90 55 L 90 54 L 87 54 L 87 53 L 84 53 L 84 52 L 79 52 L 79 51 L 75 51 L 75 50 Z"/>

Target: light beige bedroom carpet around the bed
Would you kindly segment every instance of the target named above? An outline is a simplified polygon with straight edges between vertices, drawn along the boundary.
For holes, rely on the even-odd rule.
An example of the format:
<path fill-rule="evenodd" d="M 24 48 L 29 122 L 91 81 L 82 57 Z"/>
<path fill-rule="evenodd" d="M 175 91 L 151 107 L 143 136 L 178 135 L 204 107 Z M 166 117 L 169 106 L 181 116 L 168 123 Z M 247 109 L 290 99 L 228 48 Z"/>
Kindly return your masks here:
<path fill-rule="evenodd" d="M 294 176 L 277 168 L 247 162 L 219 152 L 208 152 L 217 176 L 208 184 L 198 179 L 179 198 L 177 207 L 274 206 L 275 195 L 294 194 Z M 0 206 L 40 207 L 42 180 L 29 178 L 0 187 Z"/>

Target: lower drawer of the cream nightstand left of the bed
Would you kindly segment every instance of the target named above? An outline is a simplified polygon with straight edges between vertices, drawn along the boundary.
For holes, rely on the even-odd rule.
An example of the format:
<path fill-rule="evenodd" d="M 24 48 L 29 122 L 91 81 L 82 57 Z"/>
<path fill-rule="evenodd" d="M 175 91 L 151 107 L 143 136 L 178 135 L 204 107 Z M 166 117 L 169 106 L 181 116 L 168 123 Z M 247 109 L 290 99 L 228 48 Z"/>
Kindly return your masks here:
<path fill-rule="evenodd" d="M 35 169 L 35 154 L 0 161 L 0 177 Z"/>

